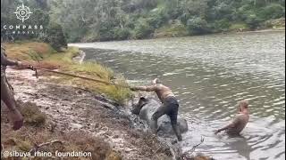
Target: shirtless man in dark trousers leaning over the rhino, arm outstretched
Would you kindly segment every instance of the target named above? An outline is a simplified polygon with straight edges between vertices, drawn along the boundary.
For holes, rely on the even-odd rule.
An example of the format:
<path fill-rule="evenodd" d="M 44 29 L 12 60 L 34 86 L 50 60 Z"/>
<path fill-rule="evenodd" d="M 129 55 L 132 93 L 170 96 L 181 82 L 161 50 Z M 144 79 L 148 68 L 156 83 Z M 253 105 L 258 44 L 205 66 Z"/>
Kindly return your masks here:
<path fill-rule="evenodd" d="M 154 128 L 156 129 L 156 132 L 158 132 L 158 127 L 157 127 L 158 118 L 160 116 L 167 115 L 171 119 L 173 131 L 175 132 L 178 140 L 181 141 L 181 132 L 177 124 L 179 103 L 178 100 L 175 98 L 174 94 L 172 93 L 172 90 L 169 87 L 164 86 L 164 84 L 162 84 L 158 78 L 154 79 L 152 81 L 152 85 L 150 86 L 131 87 L 131 90 L 156 92 L 159 100 L 161 100 L 161 102 L 163 103 L 162 106 L 158 108 L 152 116 L 152 119 L 154 120 L 153 125 L 155 126 Z"/>

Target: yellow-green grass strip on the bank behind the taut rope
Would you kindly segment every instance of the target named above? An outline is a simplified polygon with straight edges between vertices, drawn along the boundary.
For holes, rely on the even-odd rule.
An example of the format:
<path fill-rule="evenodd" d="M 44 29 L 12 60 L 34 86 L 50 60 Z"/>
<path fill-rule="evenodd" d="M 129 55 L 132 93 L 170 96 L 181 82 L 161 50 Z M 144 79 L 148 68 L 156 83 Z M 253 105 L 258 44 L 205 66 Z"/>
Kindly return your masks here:
<path fill-rule="evenodd" d="M 79 64 L 72 60 L 80 52 L 76 47 L 69 47 L 63 52 L 55 52 L 49 44 L 38 42 L 21 42 L 4 45 L 8 58 L 13 60 L 21 60 L 38 68 L 59 69 L 60 71 L 74 75 L 126 85 L 124 77 L 115 75 L 110 68 L 106 68 L 96 62 L 83 62 Z M 48 81 L 54 83 L 71 84 L 92 92 L 104 93 L 108 98 L 121 104 L 131 96 L 129 89 L 114 85 L 95 83 L 70 76 L 55 75 L 56 78 L 52 78 L 51 74 L 48 73 L 39 73 L 39 75 L 49 77 Z"/>

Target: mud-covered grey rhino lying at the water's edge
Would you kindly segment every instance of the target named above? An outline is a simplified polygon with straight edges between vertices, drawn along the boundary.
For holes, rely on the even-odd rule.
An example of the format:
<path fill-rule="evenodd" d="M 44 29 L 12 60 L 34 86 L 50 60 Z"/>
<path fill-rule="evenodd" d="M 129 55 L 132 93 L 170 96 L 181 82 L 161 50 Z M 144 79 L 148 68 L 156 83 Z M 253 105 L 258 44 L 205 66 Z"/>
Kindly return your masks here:
<path fill-rule="evenodd" d="M 156 112 L 156 109 L 159 108 L 161 104 L 153 98 L 140 97 L 139 102 L 135 104 L 131 112 L 135 115 L 138 115 L 141 119 L 147 121 L 147 124 L 150 126 L 152 131 L 156 131 L 153 124 L 152 116 Z M 172 124 L 169 116 L 161 116 L 158 121 L 158 130 L 157 133 L 161 135 L 174 135 L 172 130 Z M 188 123 L 186 119 L 178 115 L 177 123 L 181 133 L 188 131 Z"/>

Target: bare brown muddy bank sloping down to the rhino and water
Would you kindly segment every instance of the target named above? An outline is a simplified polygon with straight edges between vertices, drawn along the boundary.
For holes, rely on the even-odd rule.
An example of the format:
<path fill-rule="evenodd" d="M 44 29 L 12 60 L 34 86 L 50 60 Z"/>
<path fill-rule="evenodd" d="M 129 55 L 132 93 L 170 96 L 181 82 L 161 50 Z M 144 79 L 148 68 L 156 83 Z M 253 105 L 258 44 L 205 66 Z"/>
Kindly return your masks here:
<path fill-rule="evenodd" d="M 157 159 L 157 156 L 171 158 L 168 154 L 175 152 L 156 136 L 144 131 L 142 122 L 135 122 L 138 120 L 130 114 L 131 104 L 117 106 L 116 102 L 101 95 L 69 85 L 49 83 L 46 77 L 37 79 L 30 70 L 7 68 L 7 75 L 14 87 L 16 100 L 36 104 L 47 116 L 46 125 L 55 125 L 55 132 L 86 132 L 107 142 L 114 152 L 127 160 Z M 35 128 L 29 130 L 32 129 Z M 143 151 L 146 148 L 150 149 Z M 158 148 L 164 149 L 157 150 L 155 154 Z"/>

